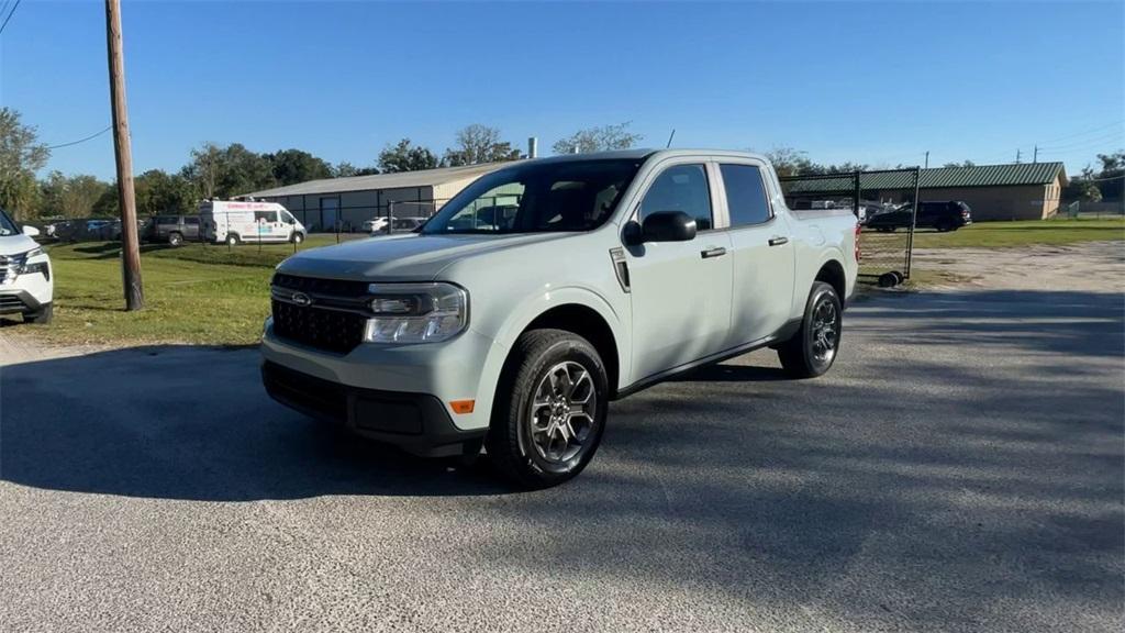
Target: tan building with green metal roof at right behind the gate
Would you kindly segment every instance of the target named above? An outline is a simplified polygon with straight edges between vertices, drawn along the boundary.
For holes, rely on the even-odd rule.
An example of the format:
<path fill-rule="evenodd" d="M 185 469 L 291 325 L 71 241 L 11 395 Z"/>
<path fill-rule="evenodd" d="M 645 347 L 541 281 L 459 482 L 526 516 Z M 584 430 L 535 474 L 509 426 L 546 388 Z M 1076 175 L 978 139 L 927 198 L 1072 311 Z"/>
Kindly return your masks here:
<path fill-rule="evenodd" d="M 903 203 L 914 197 L 914 173 L 894 171 L 861 173 L 864 199 Z M 850 176 L 839 179 L 795 180 L 788 184 L 785 197 L 812 200 L 849 195 Z M 1042 220 L 1059 208 L 1066 186 L 1061 162 L 981 164 L 922 169 L 918 195 L 922 202 L 963 200 L 972 208 L 973 220 Z"/>

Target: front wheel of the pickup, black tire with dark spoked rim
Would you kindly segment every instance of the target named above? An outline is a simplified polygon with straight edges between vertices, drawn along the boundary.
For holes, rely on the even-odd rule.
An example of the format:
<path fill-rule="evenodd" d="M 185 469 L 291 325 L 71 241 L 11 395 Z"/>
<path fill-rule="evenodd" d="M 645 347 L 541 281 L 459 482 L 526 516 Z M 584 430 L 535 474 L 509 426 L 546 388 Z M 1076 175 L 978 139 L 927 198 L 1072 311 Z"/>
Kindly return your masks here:
<path fill-rule="evenodd" d="M 585 371 L 586 376 L 577 373 L 575 366 Z M 560 377 L 561 374 L 557 373 L 559 367 L 568 376 L 577 378 L 568 377 L 552 395 L 551 387 L 556 385 L 556 380 L 548 374 L 555 373 L 556 377 Z M 587 384 L 585 378 L 588 378 L 588 385 L 583 387 Z M 567 385 L 573 386 L 569 393 L 564 394 Z M 488 458 L 494 467 L 526 489 L 549 488 L 576 476 L 594 457 L 602 440 L 609 410 L 608 385 L 605 365 L 586 339 L 562 330 L 524 332 L 516 340 L 496 389 L 496 401 L 486 438 Z M 541 400 L 550 401 L 551 398 L 559 396 L 560 401 L 541 405 L 540 413 L 533 416 L 534 399 L 541 387 L 546 387 L 544 392 L 539 393 L 541 396 L 546 395 Z M 594 399 L 593 402 L 587 400 L 587 413 L 573 418 L 577 420 L 574 426 L 569 414 L 565 424 L 557 424 L 556 413 L 573 411 L 570 399 L 577 401 L 587 393 L 586 389 L 591 390 L 588 394 Z M 546 421 L 542 413 L 547 413 Z M 588 418 L 588 425 L 584 421 L 585 418 Z M 533 421 L 543 424 L 547 430 L 534 434 Z M 574 434 L 576 447 L 562 431 L 564 428 Z M 585 436 L 579 439 L 583 431 Z M 557 456 L 551 455 L 550 448 L 557 446 L 559 440 L 562 447 Z M 542 447 L 544 442 L 546 451 Z M 570 449 L 576 452 L 572 455 Z"/>

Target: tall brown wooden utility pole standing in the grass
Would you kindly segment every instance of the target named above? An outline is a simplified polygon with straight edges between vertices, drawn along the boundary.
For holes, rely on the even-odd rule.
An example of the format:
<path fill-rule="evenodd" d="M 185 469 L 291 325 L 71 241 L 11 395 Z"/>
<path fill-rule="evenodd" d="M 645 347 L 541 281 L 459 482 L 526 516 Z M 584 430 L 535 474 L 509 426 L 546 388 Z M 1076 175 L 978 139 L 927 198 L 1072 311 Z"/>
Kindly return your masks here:
<path fill-rule="evenodd" d="M 117 195 L 122 203 L 122 284 L 125 310 L 144 307 L 141 283 L 141 243 L 137 208 L 133 197 L 133 150 L 129 115 L 125 102 L 125 59 L 122 56 L 122 3 L 106 0 L 106 44 L 109 48 L 109 101 L 114 110 L 114 153 L 117 159 Z"/>

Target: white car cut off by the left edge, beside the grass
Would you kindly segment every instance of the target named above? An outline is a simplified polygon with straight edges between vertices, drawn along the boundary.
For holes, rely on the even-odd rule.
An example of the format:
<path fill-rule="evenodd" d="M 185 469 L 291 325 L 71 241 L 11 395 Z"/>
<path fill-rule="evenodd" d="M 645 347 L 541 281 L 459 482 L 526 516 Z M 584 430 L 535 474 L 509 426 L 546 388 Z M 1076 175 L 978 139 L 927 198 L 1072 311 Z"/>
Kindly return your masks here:
<path fill-rule="evenodd" d="M 54 282 L 51 258 L 32 239 L 38 234 L 35 226 L 20 229 L 0 209 L 0 314 L 48 323 L 54 313 Z"/>

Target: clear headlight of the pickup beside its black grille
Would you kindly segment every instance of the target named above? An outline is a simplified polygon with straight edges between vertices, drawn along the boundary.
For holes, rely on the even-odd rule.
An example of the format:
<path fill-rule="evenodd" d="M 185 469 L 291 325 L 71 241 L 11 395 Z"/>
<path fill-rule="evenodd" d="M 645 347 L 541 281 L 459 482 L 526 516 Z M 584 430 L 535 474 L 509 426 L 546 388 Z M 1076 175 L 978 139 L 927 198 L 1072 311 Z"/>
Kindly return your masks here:
<path fill-rule="evenodd" d="M 469 294 L 452 284 L 371 284 L 367 342 L 438 342 L 469 322 Z"/>

